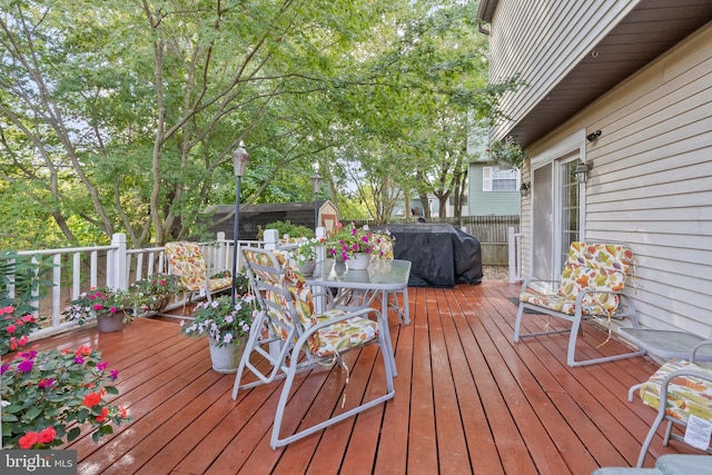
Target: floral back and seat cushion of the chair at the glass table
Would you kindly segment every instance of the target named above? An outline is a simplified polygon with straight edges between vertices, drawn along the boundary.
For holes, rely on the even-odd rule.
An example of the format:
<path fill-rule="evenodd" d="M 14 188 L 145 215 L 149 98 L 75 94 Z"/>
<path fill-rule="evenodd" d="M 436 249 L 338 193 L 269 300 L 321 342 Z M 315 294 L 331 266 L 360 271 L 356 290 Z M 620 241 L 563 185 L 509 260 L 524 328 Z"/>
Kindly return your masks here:
<path fill-rule="evenodd" d="M 309 289 L 304 276 L 289 266 L 289 258 L 285 253 L 273 251 L 273 254 L 277 258 L 279 266 L 283 268 L 281 277 L 285 279 L 284 284 L 291 297 L 291 301 L 289 303 L 280 293 L 268 293 L 266 297 L 285 309 L 285 311 L 270 310 L 270 316 L 273 318 L 278 319 L 287 327 L 291 326 L 291 317 L 288 309 L 289 305 L 294 304 L 294 310 L 299 318 L 301 327 L 307 330 L 318 323 L 340 317 L 346 314 L 344 310 L 330 309 L 323 314 L 315 315 L 312 290 Z M 246 255 L 248 259 L 258 261 L 264 266 L 273 265 L 267 255 L 250 251 L 246 251 Z M 266 279 L 265 281 L 268 281 L 273 286 L 281 287 L 281 283 L 275 281 L 274 274 L 259 270 L 257 270 L 256 274 L 260 279 Z M 281 338 L 287 337 L 287 331 L 284 328 L 277 325 L 273 325 L 273 327 Z M 353 317 L 347 320 L 333 324 L 313 334 L 308 338 L 307 345 L 309 347 L 309 352 L 314 355 L 327 357 L 333 356 L 345 348 L 355 347 L 370 342 L 376 338 L 377 335 L 378 324 L 376 321 L 363 317 Z"/>

